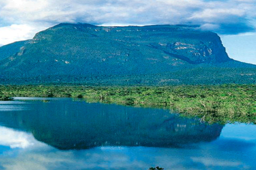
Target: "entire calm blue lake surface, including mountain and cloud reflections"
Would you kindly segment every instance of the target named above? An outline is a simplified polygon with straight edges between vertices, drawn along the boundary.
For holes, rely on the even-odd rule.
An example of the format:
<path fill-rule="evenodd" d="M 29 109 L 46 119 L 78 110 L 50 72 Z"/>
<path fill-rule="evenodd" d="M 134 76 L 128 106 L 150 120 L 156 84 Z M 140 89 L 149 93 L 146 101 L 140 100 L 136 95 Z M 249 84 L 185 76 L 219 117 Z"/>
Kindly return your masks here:
<path fill-rule="evenodd" d="M 256 125 L 72 98 L 0 101 L 0 169 L 256 169 Z"/>

